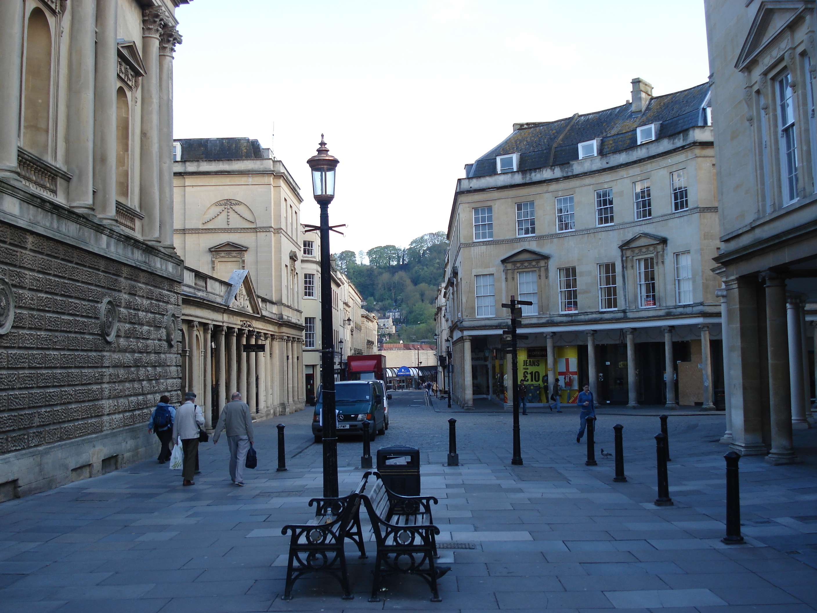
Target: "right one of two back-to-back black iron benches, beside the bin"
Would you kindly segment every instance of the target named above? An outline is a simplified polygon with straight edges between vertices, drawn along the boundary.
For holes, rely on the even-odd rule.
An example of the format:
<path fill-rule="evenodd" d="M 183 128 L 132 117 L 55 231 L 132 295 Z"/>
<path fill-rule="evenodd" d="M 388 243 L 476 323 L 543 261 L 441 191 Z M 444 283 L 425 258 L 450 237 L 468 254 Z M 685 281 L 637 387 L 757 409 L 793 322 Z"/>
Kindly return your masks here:
<path fill-rule="evenodd" d="M 431 502 L 434 496 L 401 496 L 391 492 L 378 480 L 369 495 L 363 500 L 372 522 L 374 538 L 377 542 L 377 557 L 374 562 L 372 597 L 368 602 L 380 602 L 378 593 L 382 578 L 397 573 L 408 573 L 422 577 L 431 588 L 431 602 L 440 602 L 437 579 L 451 568 L 437 566 L 436 535 L 440 528 L 434 526 L 431 517 Z"/>

